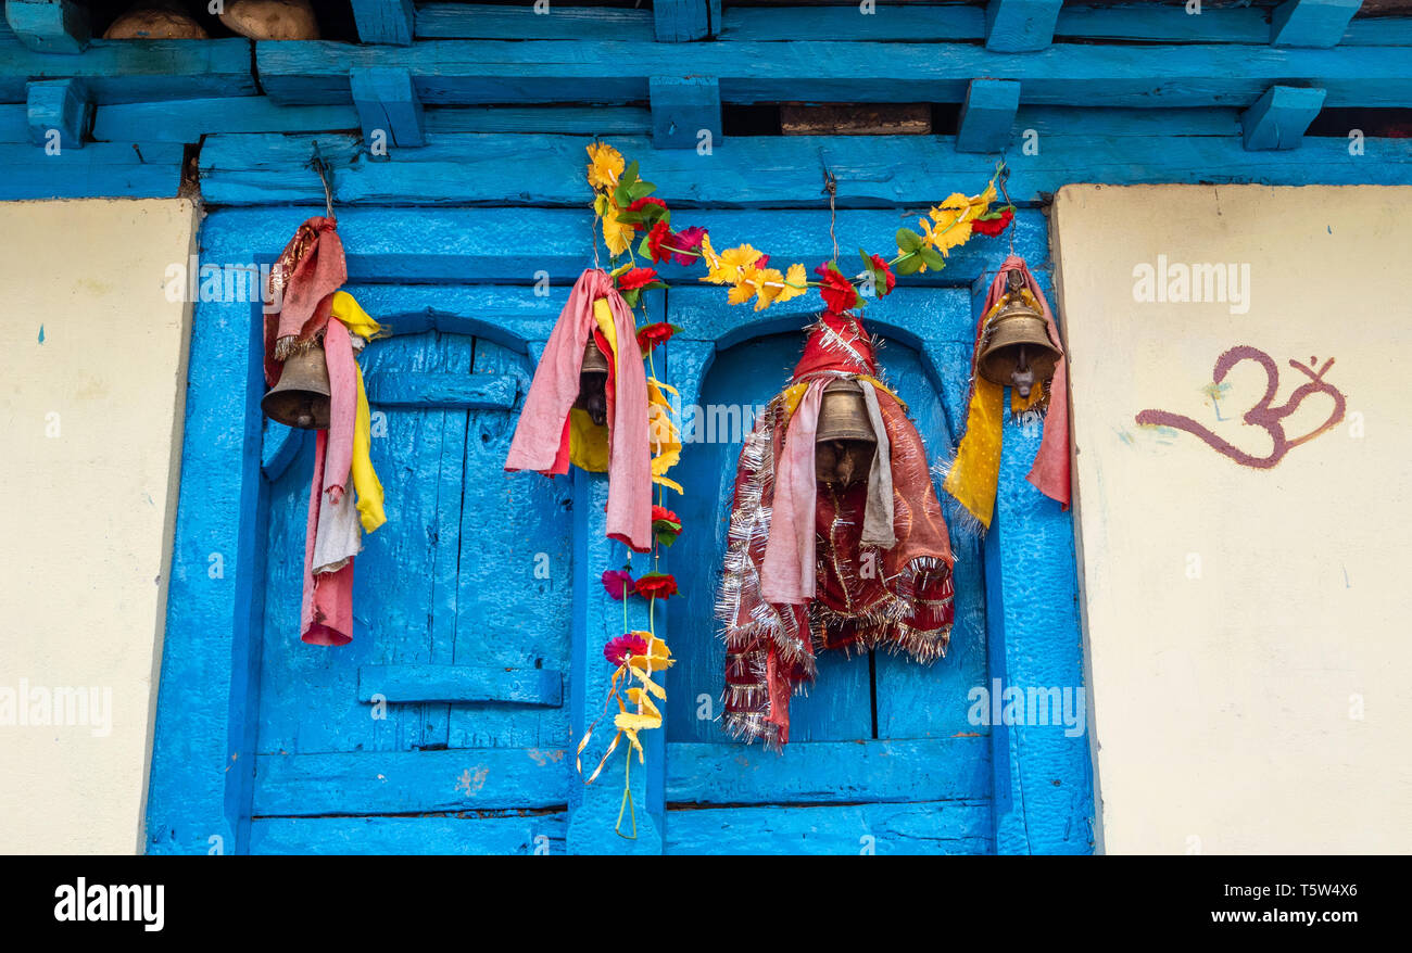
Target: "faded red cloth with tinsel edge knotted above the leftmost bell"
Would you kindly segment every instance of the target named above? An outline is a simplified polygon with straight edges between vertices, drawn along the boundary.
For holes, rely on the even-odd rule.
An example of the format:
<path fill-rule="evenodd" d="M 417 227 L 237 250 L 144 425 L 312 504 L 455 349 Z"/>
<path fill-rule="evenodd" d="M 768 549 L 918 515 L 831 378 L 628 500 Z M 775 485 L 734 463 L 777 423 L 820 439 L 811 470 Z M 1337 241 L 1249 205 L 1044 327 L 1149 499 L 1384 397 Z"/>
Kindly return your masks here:
<path fill-rule="evenodd" d="M 270 270 L 264 316 L 265 384 L 274 387 L 292 350 L 312 344 L 329 322 L 329 295 L 349 278 L 337 222 L 316 215 L 301 224 Z M 273 311 L 270 309 L 273 308 Z"/>

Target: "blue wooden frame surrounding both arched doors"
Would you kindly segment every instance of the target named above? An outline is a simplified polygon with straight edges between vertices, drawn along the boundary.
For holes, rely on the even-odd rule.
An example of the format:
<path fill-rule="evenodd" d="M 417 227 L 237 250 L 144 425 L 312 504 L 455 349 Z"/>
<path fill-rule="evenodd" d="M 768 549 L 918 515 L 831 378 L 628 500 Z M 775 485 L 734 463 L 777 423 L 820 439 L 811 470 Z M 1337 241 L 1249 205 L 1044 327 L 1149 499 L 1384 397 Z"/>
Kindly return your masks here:
<path fill-rule="evenodd" d="M 319 210 L 217 210 L 202 229 L 203 267 L 268 261 L 298 223 Z M 702 212 L 693 220 L 726 236 L 737 232 L 731 220 L 738 215 Z M 568 287 L 592 264 L 592 220 L 578 210 L 356 208 L 342 210 L 339 217 L 350 285 L 367 311 L 394 332 L 438 328 L 474 333 L 531 357 L 538 357 L 548 339 Z M 826 215 L 792 210 L 775 217 L 775 233 L 753 230 L 740 237 L 778 248 L 791 260 L 829 257 L 823 244 Z M 897 213 L 840 212 L 840 223 L 858 234 L 891 234 Z M 527 261 L 524 237 L 539 229 L 582 240 L 563 241 Z M 809 246 L 799 247 L 805 241 Z M 1043 264 L 1038 277 L 1048 287 L 1048 232 L 1041 212 L 1021 212 L 1015 250 L 1032 264 Z M 969 312 L 952 308 L 898 318 L 908 308 L 908 288 L 901 288 L 878 306 L 877 318 L 870 316 L 871 329 L 918 350 L 938 380 L 956 387 L 967 374 L 984 272 L 1003 256 L 998 243 L 984 240 L 953 254 L 945 284 L 971 288 L 974 304 Z M 534 295 L 528 287 L 514 294 L 467 287 L 507 281 L 530 285 L 541 277 L 537 272 L 552 282 L 546 296 Z M 688 275 L 669 271 L 666 277 Z M 282 439 L 281 428 L 265 429 L 258 412 L 258 306 L 250 301 L 212 301 L 198 302 L 195 309 L 147 815 L 150 853 L 244 853 L 250 841 L 268 486 L 263 467 L 282 466 L 292 446 Z M 658 312 L 665 308 L 661 294 L 651 306 Z M 683 404 L 696 402 L 716 350 L 799 326 L 798 313 L 703 306 L 693 315 L 686 335 L 669 344 L 662 373 L 681 388 Z M 1080 686 L 1070 514 L 1024 479 L 1038 439 L 1038 432 L 1007 425 L 1001 491 L 984 544 L 990 676 L 1005 686 Z M 578 733 L 607 688 L 610 672 L 602 664 L 599 633 L 610 627 L 606 620 L 621 620 L 621 606 L 606 599 L 594 573 L 620 563 L 623 553 L 617 544 L 603 539 L 604 481 L 578 472 L 572 479 L 575 601 L 582 611 L 575 613 L 569 705 Z M 645 620 L 630 621 L 637 625 Z M 669 633 L 666 637 L 671 640 Z M 672 781 L 662 736 L 648 733 L 647 768 L 633 777 L 637 802 L 647 806 L 647 816 L 638 817 L 638 840 L 613 834 L 620 798 L 616 784 L 585 788 L 575 779 L 566 786 L 565 850 L 664 850 L 664 810 Z M 1093 784 L 1087 737 L 1066 737 L 1055 726 L 1001 724 L 991 729 L 990 744 L 995 850 L 1090 853 Z M 572 761 L 570 753 L 552 764 L 568 774 Z"/>

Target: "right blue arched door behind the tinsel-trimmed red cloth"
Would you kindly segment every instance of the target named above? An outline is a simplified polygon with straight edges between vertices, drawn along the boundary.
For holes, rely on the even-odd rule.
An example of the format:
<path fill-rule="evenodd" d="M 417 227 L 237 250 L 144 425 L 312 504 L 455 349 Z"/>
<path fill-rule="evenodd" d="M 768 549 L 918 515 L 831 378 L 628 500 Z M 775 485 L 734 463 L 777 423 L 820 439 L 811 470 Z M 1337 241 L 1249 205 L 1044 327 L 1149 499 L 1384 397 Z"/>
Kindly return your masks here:
<path fill-rule="evenodd" d="M 696 291 L 668 292 L 672 320 L 688 329 L 710 323 L 702 309 L 716 308 Z M 866 320 L 870 330 L 895 326 L 902 337 L 926 342 L 938 315 L 952 312 L 962 316 L 952 322 L 960 332 L 953 336 L 964 337 L 970 294 L 960 288 L 909 289 L 870 305 Z M 772 326 L 802 329 L 812 318 L 801 312 Z M 716 424 L 731 416 L 726 408 L 764 405 L 784 387 L 803 335 L 764 333 L 719 344 L 699 387 L 700 415 L 714 414 Z M 933 339 L 916 349 L 897 337 L 880 352 L 885 380 L 908 404 L 933 463 L 952 450 L 966 400 L 966 353 L 963 340 L 938 347 Z M 823 654 L 809 695 L 791 705 L 791 741 L 782 755 L 722 733 L 716 717 L 724 645 L 712 601 L 743 436 L 737 428 L 723 442 L 722 429 L 702 433 L 714 431 L 713 442 L 686 443 L 681 481 L 688 494 L 674 498 L 686 532 L 669 551 L 669 563 L 690 582 L 668 614 L 679 664 L 668 676 L 666 849 L 988 853 L 988 729 L 967 721 L 967 692 L 986 683 L 987 671 L 981 546 L 960 537 L 955 522 L 957 618 L 945 659 L 923 666 L 887 652 L 851 659 Z"/>

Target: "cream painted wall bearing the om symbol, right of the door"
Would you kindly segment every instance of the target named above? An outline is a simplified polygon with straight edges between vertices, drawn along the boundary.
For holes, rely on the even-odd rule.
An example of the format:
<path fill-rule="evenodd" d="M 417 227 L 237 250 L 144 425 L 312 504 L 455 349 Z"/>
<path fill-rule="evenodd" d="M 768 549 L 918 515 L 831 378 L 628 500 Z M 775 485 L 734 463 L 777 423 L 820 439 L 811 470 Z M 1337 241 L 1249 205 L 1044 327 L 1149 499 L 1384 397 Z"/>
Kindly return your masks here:
<path fill-rule="evenodd" d="M 1412 851 L 1412 188 L 1066 186 L 1053 236 L 1104 849 Z M 1158 256 L 1248 265 L 1248 311 L 1137 301 Z M 1271 469 L 1135 422 L 1268 455 L 1265 373 L 1204 390 L 1237 344 L 1275 407 L 1336 359 L 1344 419 Z"/>

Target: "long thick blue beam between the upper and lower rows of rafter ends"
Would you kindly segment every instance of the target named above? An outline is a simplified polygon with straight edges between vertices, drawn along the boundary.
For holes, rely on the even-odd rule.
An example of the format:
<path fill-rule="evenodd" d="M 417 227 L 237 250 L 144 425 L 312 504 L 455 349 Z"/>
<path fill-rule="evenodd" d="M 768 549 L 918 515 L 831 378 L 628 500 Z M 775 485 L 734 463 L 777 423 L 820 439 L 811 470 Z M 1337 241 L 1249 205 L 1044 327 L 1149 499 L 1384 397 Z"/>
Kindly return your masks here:
<path fill-rule="evenodd" d="M 405 66 L 422 102 L 623 103 L 647 99 L 650 76 L 714 76 L 722 102 L 890 102 L 897 76 L 912 100 L 959 103 L 976 76 L 1024 83 L 1038 106 L 1250 106 L 1274 82 L 1300 76 L 1330 106 L 1412 104 L 1404 49 L 1236 45 L 1051 45 L 997 54 L 970 44 L 463 41 L 415 44 L 395 55 L 332 42 L 260 42 L 265 92 L 284 102 L 349 102 L 353 66 Z M 1161 76 L 1159 83 L 1152 76 Z"/>

